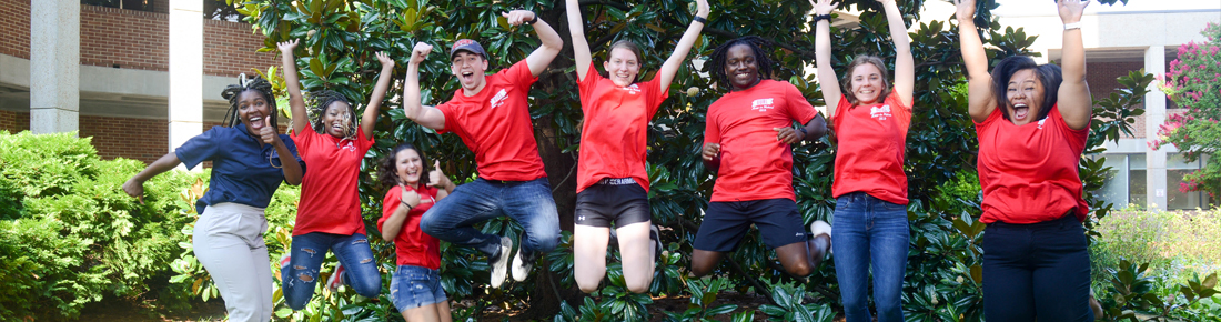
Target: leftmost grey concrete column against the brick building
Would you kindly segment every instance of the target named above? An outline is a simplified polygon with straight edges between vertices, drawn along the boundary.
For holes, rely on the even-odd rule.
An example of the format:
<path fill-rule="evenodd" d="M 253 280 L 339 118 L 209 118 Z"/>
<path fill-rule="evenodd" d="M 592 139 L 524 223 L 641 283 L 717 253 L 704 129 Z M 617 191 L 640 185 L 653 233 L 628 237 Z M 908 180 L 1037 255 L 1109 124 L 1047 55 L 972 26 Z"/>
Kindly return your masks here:
<path fill-rule="evenodd" d="M 72 132 L 81 111 L 81 1 L 29 6 L 29 129 Z"/>

